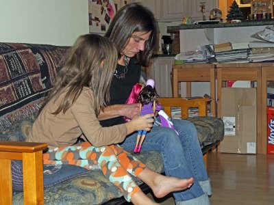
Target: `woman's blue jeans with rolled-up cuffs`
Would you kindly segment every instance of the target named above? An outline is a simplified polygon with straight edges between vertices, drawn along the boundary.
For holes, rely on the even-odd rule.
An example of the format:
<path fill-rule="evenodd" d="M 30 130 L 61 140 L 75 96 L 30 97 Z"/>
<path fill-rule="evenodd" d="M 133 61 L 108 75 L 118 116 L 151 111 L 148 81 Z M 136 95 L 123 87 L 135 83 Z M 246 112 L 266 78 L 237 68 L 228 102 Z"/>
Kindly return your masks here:
<path fill-rule="evenodd" d="M 194 124 L 187 120 L 173 119 L 172 122 L 179 136 L 171 128 L 153 126 L 142 143 L 142 150 L 161 152 L 166 176 L 194 178 L 190 189 L 173 193 L 177 202 L 193 200 L 205 195 L 206 192 L 211 195 L 210 182 Z M 125 150 L 134 150 L 136 136 L 137 133 L 130 135 L 121 146 Z M 200 184 L 205 185 L 203 189 Z"/>

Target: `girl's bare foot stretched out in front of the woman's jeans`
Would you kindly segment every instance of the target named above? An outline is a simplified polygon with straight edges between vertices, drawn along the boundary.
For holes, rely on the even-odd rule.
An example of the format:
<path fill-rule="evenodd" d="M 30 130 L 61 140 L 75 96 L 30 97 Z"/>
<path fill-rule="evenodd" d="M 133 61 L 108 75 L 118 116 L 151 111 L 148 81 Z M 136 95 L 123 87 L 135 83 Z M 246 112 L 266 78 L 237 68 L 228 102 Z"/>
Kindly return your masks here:
<path fill-rule="evenodd" d="M 170 176 L 158 176 L 155 178 L 155 188 L 152 189 L 155 197 L 164 197 L 173 191 L 188 189 L 193 184 L 193 178 L 179 179 Z M 151 187 L 152 188 L 152 187 Z"/>

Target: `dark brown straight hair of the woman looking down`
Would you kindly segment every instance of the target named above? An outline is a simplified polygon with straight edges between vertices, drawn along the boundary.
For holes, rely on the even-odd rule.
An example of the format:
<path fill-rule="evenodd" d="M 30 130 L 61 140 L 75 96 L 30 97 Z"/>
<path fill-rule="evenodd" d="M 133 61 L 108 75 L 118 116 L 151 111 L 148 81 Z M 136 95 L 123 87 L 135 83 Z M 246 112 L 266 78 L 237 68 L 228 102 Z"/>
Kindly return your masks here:
<path fill-rule="evenodd" d="M 159 44 L 158 23 L 149 9 L 139 3 L 129 3 L 123 6 L 114 16 L 105 37 L 114 42 L 120 58 L 129 38 L 136 31 L 145 33 L 151 31 L 151 35 L 145 44 L 145 50 L 136 54 L 140 64 L 148 66 L 153 50 L 157 49 Z"/>

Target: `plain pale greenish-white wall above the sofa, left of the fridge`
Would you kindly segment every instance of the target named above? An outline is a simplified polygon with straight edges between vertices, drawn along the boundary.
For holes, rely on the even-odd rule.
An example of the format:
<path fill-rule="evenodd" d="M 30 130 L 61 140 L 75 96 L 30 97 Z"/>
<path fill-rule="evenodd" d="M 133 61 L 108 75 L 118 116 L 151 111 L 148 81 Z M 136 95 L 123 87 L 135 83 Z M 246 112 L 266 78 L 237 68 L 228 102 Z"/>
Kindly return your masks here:
<path fill-rule="evenodd" d="M 70 46 L 88 33 L 88 0 L 0 0 L 1 42 Z"/>

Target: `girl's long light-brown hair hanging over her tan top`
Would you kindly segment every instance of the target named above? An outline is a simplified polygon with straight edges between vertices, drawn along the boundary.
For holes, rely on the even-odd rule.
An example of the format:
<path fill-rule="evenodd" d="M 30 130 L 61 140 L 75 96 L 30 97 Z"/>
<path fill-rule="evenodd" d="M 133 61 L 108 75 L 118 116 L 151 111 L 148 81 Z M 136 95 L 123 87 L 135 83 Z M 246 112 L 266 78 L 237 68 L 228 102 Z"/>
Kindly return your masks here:
<path fill-rule="evenodd" d="M 65 113 L 77 100 L 83 87 L 90 87 L 94 97 L 90 106 L 98 115 L 110 100 L 110 83 L 116 63 L 117 51 L 110 40 L 97 34 L 79 36 L 62 58 L 58 77 L 42 108 L 51 99 L 57 100 L 60 94 L 66 92 L 53 114 Z"/>

